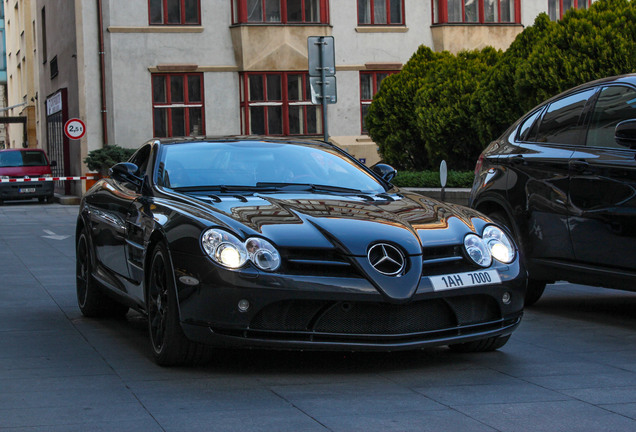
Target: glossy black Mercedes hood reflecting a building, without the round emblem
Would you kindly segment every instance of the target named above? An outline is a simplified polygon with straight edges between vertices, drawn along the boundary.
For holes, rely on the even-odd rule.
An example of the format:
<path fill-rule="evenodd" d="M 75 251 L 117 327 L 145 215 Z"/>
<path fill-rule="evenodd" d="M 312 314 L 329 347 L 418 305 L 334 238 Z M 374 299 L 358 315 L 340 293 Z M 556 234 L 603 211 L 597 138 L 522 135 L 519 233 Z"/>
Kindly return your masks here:
<path fill-rule="evenodd" d="M 392 301 L 407 301 L 417 290 L 425 248 L 461 245 L 466 234 L 481 233 L 488 222 L 469 208 L 414 193 L 268 193 L 198 200 L 207 202 L 216 223 L 242 238 L 263 236 L 280 249 L 337 249 Z M 377 243 L 397 246 L 408 270 L 399 277 L 376 271 L 367 254 Z"/>

